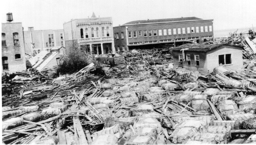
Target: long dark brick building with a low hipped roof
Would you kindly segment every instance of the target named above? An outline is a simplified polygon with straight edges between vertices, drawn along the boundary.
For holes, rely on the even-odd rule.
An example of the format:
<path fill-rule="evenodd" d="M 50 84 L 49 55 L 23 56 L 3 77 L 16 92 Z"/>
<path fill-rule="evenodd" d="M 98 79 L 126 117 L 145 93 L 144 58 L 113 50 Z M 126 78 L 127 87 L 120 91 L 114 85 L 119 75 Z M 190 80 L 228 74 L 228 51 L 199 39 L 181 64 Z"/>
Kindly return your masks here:
<path fill-rule="evenodd" d="M 196 17 L 128 22 L 114 29 L 116 51 L 153 48 L 160 44 L 213 39 L 213 20 Z"/>

